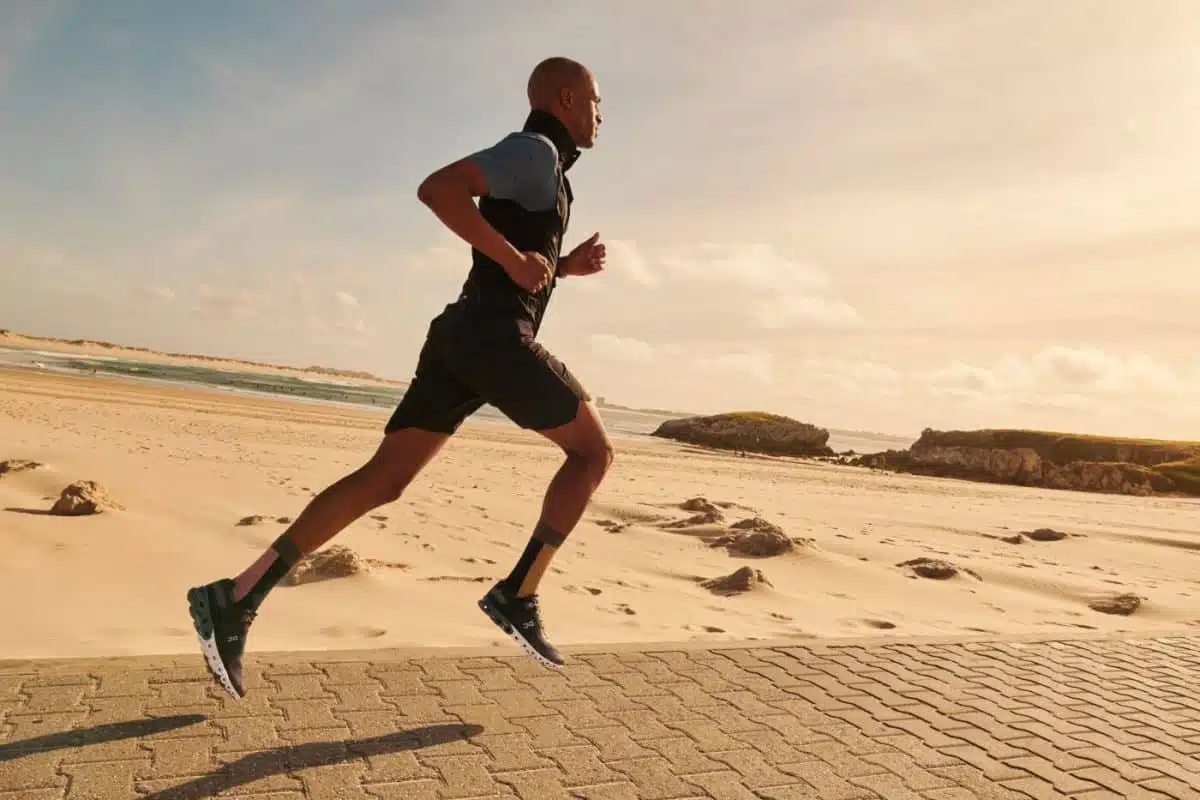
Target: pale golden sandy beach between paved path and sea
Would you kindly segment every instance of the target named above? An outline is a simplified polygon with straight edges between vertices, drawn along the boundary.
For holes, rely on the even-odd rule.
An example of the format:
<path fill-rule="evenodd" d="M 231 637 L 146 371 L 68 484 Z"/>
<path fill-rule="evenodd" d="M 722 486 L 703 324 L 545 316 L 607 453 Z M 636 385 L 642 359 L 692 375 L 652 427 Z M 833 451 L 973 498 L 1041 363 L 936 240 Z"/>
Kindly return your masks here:
<path fill-rule="evenodd" d="M 191 387 L 0 371 L 0 657 L 196 649 L 188 587 L 234 575 L 305 501 L 373 450 L 380 411 Z M 514 646 L 475 600 L 524 545 L 559 453 L 536 435 L 468 423 L 398 503 L 334 543 L 366 575 L 281 587 L 251 650 Z M 78 480 L 124 510 L 46 513 Z M 677 524 L 694 498 L 724 519 Z M 1200 624 L 1192 500 L 1028 489 L 737 457 L 649 438 L 617 461 L 544 583 L 562 644 L 864 634 L 1148 631 Z M 251 515 L 266 519 L 239 525 Z M 710 547 L 761 517 L 797 546 L 772 558 Z M 1060 541 L 1006 541 L 1054 528 Z M 949 579 L 912 559 L 949 561 Z M 739 567 L 769 585 L 722 595 Z M 1141 597 L 1130 615 L 1090 603 Z"/>

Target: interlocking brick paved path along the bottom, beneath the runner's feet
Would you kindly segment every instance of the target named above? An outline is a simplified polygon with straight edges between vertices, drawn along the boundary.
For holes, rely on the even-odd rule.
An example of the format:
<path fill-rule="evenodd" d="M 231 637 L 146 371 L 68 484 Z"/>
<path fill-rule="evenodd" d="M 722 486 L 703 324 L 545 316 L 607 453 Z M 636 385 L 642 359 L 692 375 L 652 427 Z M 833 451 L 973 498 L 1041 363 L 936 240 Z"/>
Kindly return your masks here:
<path fill-rule="evenodd" d="M 0 799 L 1200 798 L 1196 636 L 572 655 L 0 662 Z"/>

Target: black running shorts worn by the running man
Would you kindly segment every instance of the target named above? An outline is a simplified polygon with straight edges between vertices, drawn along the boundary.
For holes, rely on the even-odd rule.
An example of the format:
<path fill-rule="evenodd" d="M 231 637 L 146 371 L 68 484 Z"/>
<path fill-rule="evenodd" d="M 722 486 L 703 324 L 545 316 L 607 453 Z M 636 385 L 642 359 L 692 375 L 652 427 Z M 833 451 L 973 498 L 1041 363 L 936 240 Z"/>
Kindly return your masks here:
<path fill-rule="evenodd" d="M 436 318 L 413 383 L 385 431 L 451 434 L 485 403 L 522 428 L 545 431 L 575 419 L 590 399 L 562 361 L 516 321 L 479 324 Z"/>

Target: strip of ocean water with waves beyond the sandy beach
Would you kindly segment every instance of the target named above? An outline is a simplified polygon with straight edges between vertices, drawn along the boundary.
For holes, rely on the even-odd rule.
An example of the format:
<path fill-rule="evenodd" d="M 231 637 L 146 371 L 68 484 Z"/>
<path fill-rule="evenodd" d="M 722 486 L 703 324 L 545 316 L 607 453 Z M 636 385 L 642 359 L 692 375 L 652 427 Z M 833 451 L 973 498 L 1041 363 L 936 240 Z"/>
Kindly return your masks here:
<path fill-rule="evenodd" d="M 95 374 L 125 380 L 188 384 L 244 395 L 286 396 L 323 404 L 372 407 L 386 416 L 404 395 L 403 386 L 364 386 L 336 377 L 298 378 L 257 372 L 221 369 L 199 365 L 172 365 L 101 355 L 74 355 L 53 350 L 28 350 L 0 347 L 0 365 L 20 366 L 46 372 Z M 632 409 L 601 408 L 605 427 L 614 437 L 649 435 L 665 420 L 665 414 Z M 473 420 L 496 425 L 512 422 L 490 405 L 481 408 Z M 380 425 L 383 421 L 380 420 Z M 860 431 L 829 429 L 829 446 L 838 452 L 857 453 L 904 449 L 913 438 Z"/>

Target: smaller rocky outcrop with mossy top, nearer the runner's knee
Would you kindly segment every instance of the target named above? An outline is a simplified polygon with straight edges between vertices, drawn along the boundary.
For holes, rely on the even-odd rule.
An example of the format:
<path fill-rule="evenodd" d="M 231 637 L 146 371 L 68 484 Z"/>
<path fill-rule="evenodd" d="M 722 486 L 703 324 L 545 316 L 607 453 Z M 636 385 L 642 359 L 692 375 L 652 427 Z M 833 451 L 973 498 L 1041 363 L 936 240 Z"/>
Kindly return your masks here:
<path fill-rule="evenodd" d="M 762 411 L 734 411 L 667 420 L 650 435 L 704 447 L 768 456 L 833 456 L 829 432 L 808 422 Z"/>

